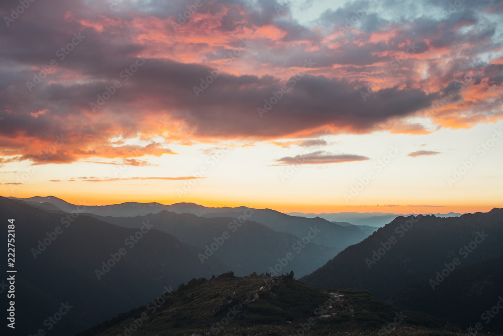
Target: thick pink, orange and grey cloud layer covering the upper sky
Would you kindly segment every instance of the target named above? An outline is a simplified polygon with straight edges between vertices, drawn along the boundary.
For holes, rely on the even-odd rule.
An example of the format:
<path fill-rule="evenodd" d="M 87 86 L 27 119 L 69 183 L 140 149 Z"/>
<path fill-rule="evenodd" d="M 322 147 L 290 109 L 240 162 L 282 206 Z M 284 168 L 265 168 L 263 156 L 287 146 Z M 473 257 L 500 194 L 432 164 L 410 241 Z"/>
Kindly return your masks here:
<path fill-rule="evenodd" d="M 407 119 L 466 128 L 503 115 L 501 2 L 356 1 L 304 25 L 275 1 L 193 4 L 47 0 L 4 20 L 0 163 L 143 165 L 176 141 L 305 138 L 326 125 L 427 134 Z M 323 145 L 312 141 L 299 145 Z"/>

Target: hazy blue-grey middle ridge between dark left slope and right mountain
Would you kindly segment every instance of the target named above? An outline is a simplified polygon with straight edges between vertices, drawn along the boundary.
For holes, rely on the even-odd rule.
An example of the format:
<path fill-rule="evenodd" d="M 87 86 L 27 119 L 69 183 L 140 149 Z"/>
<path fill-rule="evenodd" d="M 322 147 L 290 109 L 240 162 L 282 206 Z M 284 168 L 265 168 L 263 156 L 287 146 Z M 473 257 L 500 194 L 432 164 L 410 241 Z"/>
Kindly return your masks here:
<path fill-rule="evenodd" d="M 303 227 L 301 237 L 307 239 L 302 240 L 291 233 L 275 231 L 246 220 L 243 214 L 251 215 L 251 218 L 258 210 L 244 209 L 239 215 L 242 216 L 241 221 L 231 217 L 205 218 L 166 210 L 137 217 L 93 216 L 130 228 L 140 227 L 147 220 L 155 222 L 156 229 L 172 234 L 183 243 L 204 249 L 205 253 L 199 256 L 202 263 L 216 257 L 229 266 L 229 271 L 241 276 L 253 272 L 276 272 L 274 270 L 279 274 L 293 270 L 296 274 L 306 275 L 323 266 L 340 251 L 336 247 L 313 242 L 319 240 L 317 237 L 320 234 L 326 234 L 314 223 Z M 288 254 L 292 255 L 291 260 L 285 262 Z"/>

